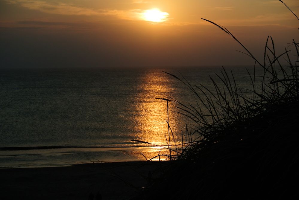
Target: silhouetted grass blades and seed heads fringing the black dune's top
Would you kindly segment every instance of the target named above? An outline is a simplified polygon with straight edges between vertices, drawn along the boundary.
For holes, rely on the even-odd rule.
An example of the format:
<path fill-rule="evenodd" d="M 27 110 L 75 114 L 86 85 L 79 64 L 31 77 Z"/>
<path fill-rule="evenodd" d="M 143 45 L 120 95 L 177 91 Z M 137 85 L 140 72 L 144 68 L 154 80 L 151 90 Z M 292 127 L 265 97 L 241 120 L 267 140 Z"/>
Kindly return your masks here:
<path fill-rule="evenodd" d="M 281 2 L 291 10 L 283 1 Z M 293 11 L 292 13 L 295 15 Z M 296 18 L 298 19 L 297 16 Z M 274 40 L 271 36 L 269 40 L 268 36 L 265 43 L 264 60 L 260 62 L 227 28 L 208 19 L 202 19 L 230 35 L 244 48 L 245 52 L 242 53 L 255 61 L 253 74 L 246 69 L 251 80 L 251 88 L 239 88 L 232 71 L 228 72 L 224 68 L 220 75 L 216 74 L 218 81 L 223 86 L 217 84 L 217 81 L 210 77 L 214 87 L 213 91 L 202 84 L 192 85 L 182 75 L 178 77 L 165 72 L 185 84 L 197 102 L 196 106 L 187 106 L 171 97 L 168 99 L 157 98 L 167 101 L 168 137 L 165 135 L 165 138 L 170 160 L 190 158 L 194 152 L 204 149 L 210 143 L 218 142 L 219 138 L 224 136 L 228 130 L 233 131 L 255 116 L 263 114 L 277 105 L 297 102 L 299 98 L 299 43 L 293 39 L 292 44 L 285 48 L 283 53 L 277 55 Z M 297 58 L 291 59 L 290 53 Z M 287 65 L 281 63 L 282 58 L 285 59 Z M 257 67 L 263 69 L 261 76 L 256 74 Z M 257 81 L 258 79 L 261 79 L 261 83 Z M 175 141 L 169 124 L 169 101 L 177 103 L 176 107 L 179 109 L 179 113 L 194 122 L 192 126 L 186 124 L 185 133 L 181 132 L 181 144 Z"/>

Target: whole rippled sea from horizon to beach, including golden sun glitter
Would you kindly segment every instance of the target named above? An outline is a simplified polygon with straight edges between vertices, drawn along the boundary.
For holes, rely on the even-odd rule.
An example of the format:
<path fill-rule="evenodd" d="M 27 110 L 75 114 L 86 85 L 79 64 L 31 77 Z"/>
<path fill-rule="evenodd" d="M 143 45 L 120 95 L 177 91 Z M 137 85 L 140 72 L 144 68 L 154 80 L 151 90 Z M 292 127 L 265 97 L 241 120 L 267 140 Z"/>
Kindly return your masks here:
<path fill-rule="evenodd" d="M 232 70 L 249 88 L 245 67 Z M 126 69 L 1 69 L 0 167 L 52 167 L 151 158 L 166 145 L 167 103 L 196 105 L 179 80 L 213 90 L 209 75 L 221 67 Z M 249 71 L 253 71 L 249 67 Z M 169 124 L 179 141 L 191 123 L 169 102 Z M 143 154 L 143 155 L 142 155 Z"/>

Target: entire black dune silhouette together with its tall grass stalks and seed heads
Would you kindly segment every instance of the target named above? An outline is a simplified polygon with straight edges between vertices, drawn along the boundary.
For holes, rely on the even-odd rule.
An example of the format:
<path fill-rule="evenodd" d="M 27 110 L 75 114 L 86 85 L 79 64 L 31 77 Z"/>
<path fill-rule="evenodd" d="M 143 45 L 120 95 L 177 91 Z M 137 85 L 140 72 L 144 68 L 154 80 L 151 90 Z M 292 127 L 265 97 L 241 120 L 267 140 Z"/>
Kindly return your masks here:
<path fill-rule="evenodd" d="M 211 78 L 213 91 L 166 72 L 192 91 L 197 105 L 162 100 L 175 102 L 194 125 L 186 125 L 178 142 L 166 120 L 169 154 L 163 156 L 173 162 L 135 199 L 298 199 L 299 43 L 293 39 L 277 54 L 270 36 L 260 62 L 229 30 L 203 20 L 229 34 L 254 59 L 254 73 L 248 72 L 252 87 L 239 88 L 224 68 L 217 75 L 221 85 Z"/>

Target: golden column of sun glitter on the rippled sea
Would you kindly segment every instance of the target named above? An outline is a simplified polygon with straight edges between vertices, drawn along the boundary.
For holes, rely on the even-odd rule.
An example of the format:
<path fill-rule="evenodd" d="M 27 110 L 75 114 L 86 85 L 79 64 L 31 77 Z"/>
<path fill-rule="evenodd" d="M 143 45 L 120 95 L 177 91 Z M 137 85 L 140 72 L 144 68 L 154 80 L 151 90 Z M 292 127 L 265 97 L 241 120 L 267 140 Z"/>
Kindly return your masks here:
<path fill-rule="evenodd" d="M 167 125 L 167 102 L 156 98 L 166 98 L 174 91 L 171 77 L 161 71 L 148 71 L 143 77 L 143 83 L 139 85 L 141 95 L 136 96 L 135 121 L 137 124 L 135 138 L 160 146 L 167 146 L 168 139 Z M 177 135 L 176 129 L 179 123 L 177 111 L 173 102 L 169 102 L 169 124 Z M 172 138 L 172 137 L 171 137 Z M 177 139 L 177 137 L 175 137 Z M 171 139 L 173 143 L 173 139 Z M 159 150 L 160 147 L 153 147 Z M 152 149 L 152 150 L 153 150 Z"/>

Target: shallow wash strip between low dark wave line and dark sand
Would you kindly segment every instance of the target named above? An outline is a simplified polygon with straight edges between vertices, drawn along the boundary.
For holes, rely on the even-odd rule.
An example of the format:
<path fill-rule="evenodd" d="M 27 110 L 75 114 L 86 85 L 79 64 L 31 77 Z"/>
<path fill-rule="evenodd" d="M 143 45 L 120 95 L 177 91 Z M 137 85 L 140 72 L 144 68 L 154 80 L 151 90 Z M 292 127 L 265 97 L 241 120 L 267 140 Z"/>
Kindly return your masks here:
<path fill-rule="evenodd" d="M 102 163 L 146 161 L 143 155 L 152 158 L 158 151 L 159 149 L 153 146 L 0 150 L 0 169 L 65 167 L 99 161 Z"/>

